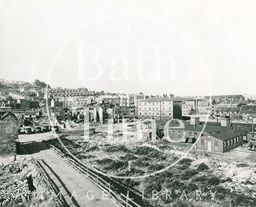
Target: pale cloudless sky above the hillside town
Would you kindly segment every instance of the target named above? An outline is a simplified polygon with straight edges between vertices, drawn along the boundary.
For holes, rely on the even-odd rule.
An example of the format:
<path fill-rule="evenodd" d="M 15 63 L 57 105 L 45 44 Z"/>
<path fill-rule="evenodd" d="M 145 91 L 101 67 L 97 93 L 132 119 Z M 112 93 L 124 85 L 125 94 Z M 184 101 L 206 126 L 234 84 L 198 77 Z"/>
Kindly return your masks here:
<path fill-rule="evenodd" d="M 253 1 L 0 1 L 0 78 L 126 94 L 255 94 L 255 10 Z"/>

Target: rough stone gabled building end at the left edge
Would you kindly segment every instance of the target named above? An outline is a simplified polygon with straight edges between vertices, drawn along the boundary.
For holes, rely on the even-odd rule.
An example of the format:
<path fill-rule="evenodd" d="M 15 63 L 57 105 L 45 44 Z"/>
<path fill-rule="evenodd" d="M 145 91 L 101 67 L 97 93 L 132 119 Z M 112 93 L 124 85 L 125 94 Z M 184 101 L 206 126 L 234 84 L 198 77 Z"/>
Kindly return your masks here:
<path fill-rule="evenodd" d="M 17 119 L 8 115 L 0 120 L 0 154 L 16 154 L 16 140 L 18 140 Z"/>

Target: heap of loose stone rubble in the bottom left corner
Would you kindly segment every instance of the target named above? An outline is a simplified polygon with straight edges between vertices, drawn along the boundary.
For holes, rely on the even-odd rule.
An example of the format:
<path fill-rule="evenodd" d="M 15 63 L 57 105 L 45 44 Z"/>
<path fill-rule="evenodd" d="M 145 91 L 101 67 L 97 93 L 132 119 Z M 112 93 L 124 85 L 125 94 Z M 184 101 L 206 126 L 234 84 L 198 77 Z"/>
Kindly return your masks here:
<path fill-rule="evenodd" d="M 0 185 L 0 206 L 5 207 L 8 203 L 18 204 L 30 199 L 31 191 L 27 181 L 8 182 Z"/>

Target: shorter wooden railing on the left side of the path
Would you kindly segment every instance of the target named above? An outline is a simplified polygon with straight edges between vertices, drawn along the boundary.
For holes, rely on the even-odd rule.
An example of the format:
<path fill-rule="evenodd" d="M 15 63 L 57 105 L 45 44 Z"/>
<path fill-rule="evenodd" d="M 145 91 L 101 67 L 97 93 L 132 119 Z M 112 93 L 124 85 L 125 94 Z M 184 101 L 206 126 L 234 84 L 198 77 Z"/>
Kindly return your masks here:
<path fill-rule="evenodd" d="M 32 156 L 31 156 L 32 157 Z M 44 170 L 42 169 L 42 167 L 38 164 L 38 161 L 36 161 L 34 159 L 34 157 L 31 158 L 32 163 L 34 163 L 34 165 L 36 166 L 36 169 L 39 171 L 40 175 L 42 175 L 42 179 L 44 179 L 44 182 L 46 183 L 46 185 L 49 187 L 50 189 L 50 193 L 38 204 L 38 207 L 42 204 L 42 202 L 50 195 L 54 195 L 55 197 L 55 201 L 54 203 L 52 203 L 51 207 L 56 203 L 57 207 L 60 206 L 66 206 L 64 203 L 64 199 L 63 199 L 63 195 L 61 194 L 61 192 L 56 192 L 57 190 L 54 189 L 54 185 L 51 183 L 50 179 L 48 178 L 48 176 L 46 175 L 46 173 L 44 172 Z M 40 179 L 41 180 L 41 179 Z"/>

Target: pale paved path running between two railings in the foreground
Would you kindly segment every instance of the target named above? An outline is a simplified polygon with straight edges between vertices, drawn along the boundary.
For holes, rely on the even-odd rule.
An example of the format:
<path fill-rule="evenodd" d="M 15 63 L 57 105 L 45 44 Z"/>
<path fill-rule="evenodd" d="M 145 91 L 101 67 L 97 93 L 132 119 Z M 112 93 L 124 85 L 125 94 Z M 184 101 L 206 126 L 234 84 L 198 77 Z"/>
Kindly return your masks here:
<path fill-rule="evenodd" d="M 41 136 L 40 136 L 41 135 Z M 28 153 L 38 160 L 50 179 L 64 196 L 68 206 L 76 207 L 115 207 L 116 202 L 104 194 L 90 180 L 66 161 L 48 149 L 41 142 L 42 134 L 22 135 L 19 140 L 25 144 Z M 87 194 L 87 195 L 86 195 Z M 73 195 L 73 196 L 72 196 Z"/>

